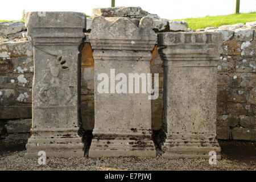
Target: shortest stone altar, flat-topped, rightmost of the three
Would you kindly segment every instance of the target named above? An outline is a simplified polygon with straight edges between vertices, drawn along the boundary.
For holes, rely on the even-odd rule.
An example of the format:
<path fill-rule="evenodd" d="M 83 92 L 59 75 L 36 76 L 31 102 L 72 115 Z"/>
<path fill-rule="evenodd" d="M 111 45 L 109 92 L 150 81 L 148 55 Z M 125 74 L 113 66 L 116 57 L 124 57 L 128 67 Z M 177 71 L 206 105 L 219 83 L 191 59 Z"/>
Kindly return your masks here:
<path fill-rule="evenodd" d="M 164 67 L 162 146 L 168 158 L 209 158 L 216 140 L 216 62 L 222 35 L 168 32 L 158 36 Z M 217 155 L 220 158 L 220 155 Z"/>

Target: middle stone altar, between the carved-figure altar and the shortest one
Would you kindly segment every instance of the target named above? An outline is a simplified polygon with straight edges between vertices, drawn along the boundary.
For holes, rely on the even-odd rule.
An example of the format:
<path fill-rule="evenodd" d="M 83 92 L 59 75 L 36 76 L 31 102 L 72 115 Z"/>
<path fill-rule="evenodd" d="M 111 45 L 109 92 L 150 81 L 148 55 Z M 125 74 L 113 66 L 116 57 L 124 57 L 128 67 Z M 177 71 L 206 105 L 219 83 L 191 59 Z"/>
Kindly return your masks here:
<path fill-rule="evenodd" d="M 97 156 L 155 156 L 151 140 L 151 101 L 148 93 L 129 93 L 129 73 L 150 73 L 150 51 L 157 36 L 152 30 L 152 19 L 135 22 L 129 18 L 93 19 L 89 39 L 94 49 L 94 103 L 95 126 L 89 150 Z M 111 69 L 111 70 L 110 70 Z M 105 73 L 108 92 L 97 89 L 102 82 L 98 76 Z M 125 75 L 127 93 L 117 93 L 117 75 Z M 117 76 L 117 77 L 115 77 Z M 142 85 L 142 82 L 140 82 Z"/>

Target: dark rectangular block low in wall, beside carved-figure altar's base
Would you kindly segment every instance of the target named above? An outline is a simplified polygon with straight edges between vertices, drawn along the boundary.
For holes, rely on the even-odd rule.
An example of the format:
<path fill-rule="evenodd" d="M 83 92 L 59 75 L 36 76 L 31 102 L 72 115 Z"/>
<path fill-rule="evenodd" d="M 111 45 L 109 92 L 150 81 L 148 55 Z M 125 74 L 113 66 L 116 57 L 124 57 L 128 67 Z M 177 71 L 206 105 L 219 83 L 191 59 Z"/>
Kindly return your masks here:
<path fill-rule="evenodd" d="M 6 125 L 7 133 L 29 133 L 32 126 L 32 119 L 8 120 Z"/>

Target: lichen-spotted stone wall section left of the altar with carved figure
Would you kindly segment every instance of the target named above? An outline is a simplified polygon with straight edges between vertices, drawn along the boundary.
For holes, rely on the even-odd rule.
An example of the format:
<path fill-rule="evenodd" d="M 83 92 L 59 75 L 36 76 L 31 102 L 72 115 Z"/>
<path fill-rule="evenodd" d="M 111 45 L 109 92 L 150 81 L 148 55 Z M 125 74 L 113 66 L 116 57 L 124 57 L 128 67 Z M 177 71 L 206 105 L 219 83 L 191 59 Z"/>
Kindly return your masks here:
<path fill-rule="evenodd" d="M 24 32 L 24 22 L 0 23 L 0 135 L 6 139 L 30 137 L 34 63 Z"/>

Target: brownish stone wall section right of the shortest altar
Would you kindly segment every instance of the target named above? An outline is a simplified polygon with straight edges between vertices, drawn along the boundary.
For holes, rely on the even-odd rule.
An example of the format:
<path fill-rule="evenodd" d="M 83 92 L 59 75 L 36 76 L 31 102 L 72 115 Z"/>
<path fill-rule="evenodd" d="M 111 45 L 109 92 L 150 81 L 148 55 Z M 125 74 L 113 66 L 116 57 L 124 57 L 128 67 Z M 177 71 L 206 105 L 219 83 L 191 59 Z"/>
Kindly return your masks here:
<path fill-rule="evenodd" d="M 218 61 L 217 126 L 228 127 L 230 139 L 255 141 L 255 30 L 243 24 L 222 28 L 234 36 L 222 43 Z"/>

